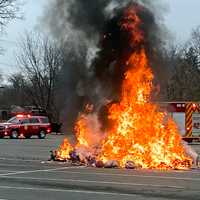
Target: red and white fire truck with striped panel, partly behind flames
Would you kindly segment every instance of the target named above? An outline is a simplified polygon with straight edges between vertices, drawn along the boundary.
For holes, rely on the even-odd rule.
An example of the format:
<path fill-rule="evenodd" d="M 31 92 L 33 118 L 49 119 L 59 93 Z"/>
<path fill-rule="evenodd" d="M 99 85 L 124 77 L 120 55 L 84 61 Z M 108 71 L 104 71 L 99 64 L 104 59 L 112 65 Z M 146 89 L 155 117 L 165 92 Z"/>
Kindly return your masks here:
<path fill-rule="evenodd" d="M 162 102 L 176 122 L 183 140 L 200 141 L 200 102 Z"/>

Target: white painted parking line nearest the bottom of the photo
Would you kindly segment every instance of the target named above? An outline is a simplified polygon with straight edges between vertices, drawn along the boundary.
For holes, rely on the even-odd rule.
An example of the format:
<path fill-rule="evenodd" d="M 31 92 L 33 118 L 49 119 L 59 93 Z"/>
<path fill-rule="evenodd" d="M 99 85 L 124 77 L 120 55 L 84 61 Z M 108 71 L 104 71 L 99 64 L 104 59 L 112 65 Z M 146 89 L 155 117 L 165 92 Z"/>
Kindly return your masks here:
<path fill-rule="evenodd" d="M 49 191 L 49 192 L 72 192 L 72 193 L 83 193 L 83 194 L 98 194 L 98 195 L 112 195 L 112 196 L 129 196 L 135 197 L 135 194 L 122 194 L 116 192 L 98 192 L 91 190 L 69 190 L 69 189 L 53 189 L 53 188 L 38 188 L 38 187 L 12 187 L 12 186 L 0 186 L 0 189 L 14 189 L 14 190 L 35 190 L 35 191 Z M 0 199 L 4 200 L 4 199 Z M 5 199 L 6 200 L 6 199 Z"/>

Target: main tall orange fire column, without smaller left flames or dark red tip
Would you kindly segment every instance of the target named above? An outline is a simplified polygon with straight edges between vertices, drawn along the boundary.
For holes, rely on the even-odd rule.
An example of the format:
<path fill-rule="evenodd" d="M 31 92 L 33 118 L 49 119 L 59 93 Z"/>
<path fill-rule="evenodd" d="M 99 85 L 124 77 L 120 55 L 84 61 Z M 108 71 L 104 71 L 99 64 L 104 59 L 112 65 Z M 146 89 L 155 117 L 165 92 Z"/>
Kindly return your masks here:
<path fill-rule="evenodd" d="M 143 168 L 182 168 L 188 161 L 176 124 L 150 103 L 152 72 L 145 51 L 134 53 L 125 74 L 121 101 L 109 109 L 114 126 L 102 143 L 99 159 L 133 161 Z"/>

